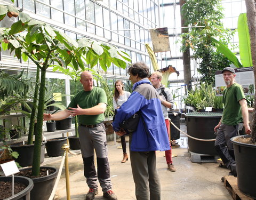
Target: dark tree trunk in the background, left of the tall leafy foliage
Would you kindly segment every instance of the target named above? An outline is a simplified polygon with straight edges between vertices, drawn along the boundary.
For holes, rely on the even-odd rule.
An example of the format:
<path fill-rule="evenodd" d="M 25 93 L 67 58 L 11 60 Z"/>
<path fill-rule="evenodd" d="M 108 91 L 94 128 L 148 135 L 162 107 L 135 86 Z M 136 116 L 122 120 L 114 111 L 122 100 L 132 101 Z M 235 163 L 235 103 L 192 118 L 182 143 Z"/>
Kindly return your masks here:
<path fill-rule="evenodd" d="M 180 0 L 180 10 L 183 4 L 186 3 L 186 0 Z M 181 27 L 186 27 L 188 24 L 185 22 L 185 19 L 180 12 L 181 19 Z M 188 33 L 188 28 L 181 28 L 181 33 Z M 184 44 L 183 44 L 184 45 Z M 186 49 L 185 52 L 182 53 L 183 59 L 183 70 L 184 70 L 184 84 L 187 85 L 187 89 L 190 90 L 190 80 L 191 80 L 191 69 L 190 69 L 190 50 Z M 187 94 L 187 91 L 186 91 Z"/>

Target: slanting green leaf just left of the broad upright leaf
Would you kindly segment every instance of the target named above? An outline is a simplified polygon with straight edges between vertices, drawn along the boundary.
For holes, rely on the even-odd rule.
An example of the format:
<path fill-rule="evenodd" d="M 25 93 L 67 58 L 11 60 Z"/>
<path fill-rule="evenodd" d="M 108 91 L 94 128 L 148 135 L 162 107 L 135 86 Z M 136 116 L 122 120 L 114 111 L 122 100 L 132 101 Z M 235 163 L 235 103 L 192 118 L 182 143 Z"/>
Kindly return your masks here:
<path fill-rule="evenodd" d="M 217 39 L 212 38 L 212 41 L 216 44 L 217 50 L 221 52 L 228 60 L 230 60 L 237 68 L 243 67 L 233 52 L 231 52 L 227 46 L 223 45 Z"/>

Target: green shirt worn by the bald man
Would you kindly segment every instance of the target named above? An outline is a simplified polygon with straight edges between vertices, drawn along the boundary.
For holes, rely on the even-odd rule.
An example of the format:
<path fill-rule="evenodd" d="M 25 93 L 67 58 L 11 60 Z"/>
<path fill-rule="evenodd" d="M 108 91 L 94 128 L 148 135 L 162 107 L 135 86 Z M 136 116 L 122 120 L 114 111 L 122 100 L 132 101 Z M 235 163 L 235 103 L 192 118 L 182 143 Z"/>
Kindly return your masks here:
<path fill-rule="evenodd" d="M 77 105 L 81 108 L 91 108 L 97 106 L 99 103 L 107 104 L 107 96 L 103 89 L 100 87 L 93 87 L 91 91 L 80 91 L 71 100 L 68 108 L 77 108 Z M 78 115 L 78 123 L 83 125 L 94 125 L 103 122 L 105 115 Z"/>

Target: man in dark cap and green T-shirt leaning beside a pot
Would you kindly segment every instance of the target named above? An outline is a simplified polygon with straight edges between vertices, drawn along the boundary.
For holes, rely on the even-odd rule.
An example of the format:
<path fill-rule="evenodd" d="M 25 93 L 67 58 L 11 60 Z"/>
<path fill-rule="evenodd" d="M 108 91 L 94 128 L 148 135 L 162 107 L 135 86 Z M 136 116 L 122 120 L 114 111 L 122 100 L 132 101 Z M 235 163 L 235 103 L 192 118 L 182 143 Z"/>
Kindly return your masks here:
<path fill-rule="evenodd" d="M 226 67 L 221 73 L 227 87 L 223 90 L 223 114 L 219 124 L 214 127 L 214 131 L 217 132 L 215 149 L 222 162 L 231 170 L 229 175 L 236 177 L 236 162 L 230 138 L 237 135 L 238 123 L 244 123 L 246 134 L 251 133 L 248 108 L 242 86 L 235 83 L 235 70 Z"/>

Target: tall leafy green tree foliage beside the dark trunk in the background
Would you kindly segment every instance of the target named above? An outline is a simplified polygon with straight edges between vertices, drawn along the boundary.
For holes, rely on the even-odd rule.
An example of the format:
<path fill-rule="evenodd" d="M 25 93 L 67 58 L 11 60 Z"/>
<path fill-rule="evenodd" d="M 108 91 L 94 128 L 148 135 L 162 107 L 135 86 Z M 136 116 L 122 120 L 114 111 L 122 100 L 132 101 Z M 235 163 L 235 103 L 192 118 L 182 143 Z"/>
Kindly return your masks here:
<path fill-rule="evenodd" d="M 222 44 L 230 44 L 234 31 L 225 29 L 221 22 L 223 18 L 221 0 L 187 0 L 181 7 L 181 12 L 190 28 L 183 33 L 181 51 L 188 47 L 193 50 L 193 57 L 198 59 L 198 71 L 202 74 L 201 83 L 215 84 L 215 71 L 230 65 L 230 61 L 217 51 L 212 38 L 217 38 Z"/>

